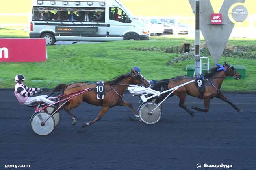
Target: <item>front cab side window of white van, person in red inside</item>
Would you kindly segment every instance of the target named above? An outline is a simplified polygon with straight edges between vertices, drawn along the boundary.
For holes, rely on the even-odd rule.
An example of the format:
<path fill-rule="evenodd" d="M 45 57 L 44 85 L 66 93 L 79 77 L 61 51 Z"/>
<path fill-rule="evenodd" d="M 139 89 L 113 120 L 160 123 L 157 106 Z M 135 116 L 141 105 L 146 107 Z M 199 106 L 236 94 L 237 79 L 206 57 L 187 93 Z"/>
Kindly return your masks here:
<path fill-rule="evenodd" d="M 119 21 L 119 22 L 124 22 L 124 23 L 132 22 L 130 20 L 129 16 L 126 15 L 126 13 L 122 9 L 117 8 L 117 7 L 109 8 L 109 19 Z"/>

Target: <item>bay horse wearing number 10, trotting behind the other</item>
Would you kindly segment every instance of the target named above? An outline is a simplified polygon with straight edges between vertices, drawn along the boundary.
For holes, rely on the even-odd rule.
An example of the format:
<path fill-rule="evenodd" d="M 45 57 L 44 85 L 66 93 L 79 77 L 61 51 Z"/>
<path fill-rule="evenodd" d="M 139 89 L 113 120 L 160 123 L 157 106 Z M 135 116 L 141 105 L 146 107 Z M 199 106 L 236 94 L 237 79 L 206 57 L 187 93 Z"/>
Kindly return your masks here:
<path fill-rule="evenodd" d="M 139 117 L 137 111 L 132 106 L 132 104 L 123 101 L 122 99 L 124 91 L 130 84 L 139 84 L 141 86 L 145 86 L 145 88 L 150 86 L 148 80 L 140 74 L 140 70 L 137 67 L 134 67 L 130 73 L 118 76 L 112 81 L 104 82 L 105 94 L 103 101 L 101 101 L 101 99 L 97 99 L 97 94 L 95 90 L 96 84 L 75 83 L 70 86 L 64 84 L 58 85 L 58 88 L 60 88 L 60 86 L 65 88 L 64 95 L 69 95 L 76 91 L 85 90 L 87 88 L 91 89 L 85 93 L 72 97 L 72 99 L 64 104 L 61 109 L 64 108 L 64 110 L 69 113 L 69 115 L 73 119 L 72 124 L 73 126 L 75 126 L 76 116 L 73 115 L 73 113 L 71 112 L 73 108 L 78 107 L 82 102 L 86 102 L 96 106 L 102 106 L 102 109 L 98 113 L 96 119 L 87 123 L 83 122 L 82 127 L 90 126 L 95 122 L 99 121 L 109 110 L 109 108 L 112 108 L 114 106 L 128 106 L 134 112 L 135 117 Z M 61 104 L 62 103 L 60 103 L 59 105 L 61 106 Z"/>

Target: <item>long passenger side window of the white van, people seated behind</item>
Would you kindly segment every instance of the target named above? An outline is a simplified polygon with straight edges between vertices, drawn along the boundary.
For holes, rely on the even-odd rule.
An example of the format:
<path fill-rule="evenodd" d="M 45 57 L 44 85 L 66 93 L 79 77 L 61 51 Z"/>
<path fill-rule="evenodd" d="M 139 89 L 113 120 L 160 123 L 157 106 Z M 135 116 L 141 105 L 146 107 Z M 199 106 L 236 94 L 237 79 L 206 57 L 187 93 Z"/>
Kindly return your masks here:
<path fill-rule="evenodd" d="M 33 7 L 32 20 L 105 22 L 105 8 Z"/>

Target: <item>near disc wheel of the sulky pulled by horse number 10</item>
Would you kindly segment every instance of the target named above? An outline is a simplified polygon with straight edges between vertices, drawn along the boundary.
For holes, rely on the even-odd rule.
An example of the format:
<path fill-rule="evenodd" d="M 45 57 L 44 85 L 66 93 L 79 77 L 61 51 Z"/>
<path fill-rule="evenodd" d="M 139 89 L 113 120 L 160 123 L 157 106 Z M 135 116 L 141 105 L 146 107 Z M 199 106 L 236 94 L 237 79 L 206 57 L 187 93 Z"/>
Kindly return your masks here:
<path fill-rule="evenodd" d="M 46 112 L 38 112 L 33 115 L 31 119 L 31 127 L 32 127 L 32 130 L 35 133 L 37 133 L 37 135 L 45 136 L 50 134 L 54 130 L 54 126 L 55 126 L 54 118 L 50 117 L 50 119 L 48 119 L 49 117 L 50 117 L 50 114 Z"/>

